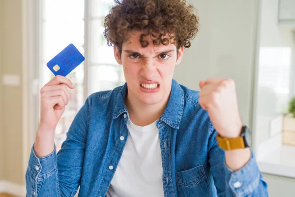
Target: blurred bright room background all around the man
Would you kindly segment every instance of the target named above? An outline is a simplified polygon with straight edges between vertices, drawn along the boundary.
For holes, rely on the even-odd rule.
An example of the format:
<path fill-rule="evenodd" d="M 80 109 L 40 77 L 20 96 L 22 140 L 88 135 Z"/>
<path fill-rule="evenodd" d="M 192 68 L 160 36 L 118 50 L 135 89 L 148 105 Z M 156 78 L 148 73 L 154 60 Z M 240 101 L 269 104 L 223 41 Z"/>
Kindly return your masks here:
<path fill-rule="evenodd" d="M 239 112 L 270 197 L 295 196 L 295 0 L 190 0 L 200 32 L 176 67 L 199 90 L 208 77 L 233 78 Z M 58 150 L 85 99 L 124 84 L 103 36 L 113 0 L 0 0 L 0 193 L 26 196 L 25 172 L 40 113 L 46 63 L 73 43 L 86 61 L 56 130 Z M 1 197 L 1 194 L 0 194 Z"/>

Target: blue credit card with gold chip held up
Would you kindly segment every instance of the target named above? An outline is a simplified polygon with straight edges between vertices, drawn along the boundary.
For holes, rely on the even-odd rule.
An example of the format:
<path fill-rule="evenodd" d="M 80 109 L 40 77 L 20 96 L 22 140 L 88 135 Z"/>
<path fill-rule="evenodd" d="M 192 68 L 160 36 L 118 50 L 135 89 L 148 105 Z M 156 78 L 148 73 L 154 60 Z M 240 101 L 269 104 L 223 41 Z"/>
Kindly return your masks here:
<path fill-rule="evenodd" d="M 54 75 L 66 76 L 85 60 L 84 56 L 73 45 L 69 44 L 58 55 L 47 63 Z"/>

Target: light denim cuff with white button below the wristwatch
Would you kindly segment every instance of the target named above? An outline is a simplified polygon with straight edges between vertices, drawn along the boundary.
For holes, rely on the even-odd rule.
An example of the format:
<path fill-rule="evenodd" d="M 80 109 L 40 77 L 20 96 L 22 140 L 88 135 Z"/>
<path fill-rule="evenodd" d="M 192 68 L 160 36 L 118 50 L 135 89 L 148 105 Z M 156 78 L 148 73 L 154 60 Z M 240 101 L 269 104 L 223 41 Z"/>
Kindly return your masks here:
<path fill-rule="evenodd" d="M 225 177 L 232 192 L 238 197 L 252 194 L 260 183 L 260 171 L 253 150 L 251 158 L 241 169 L 234 172 L 225 164 Z"/>

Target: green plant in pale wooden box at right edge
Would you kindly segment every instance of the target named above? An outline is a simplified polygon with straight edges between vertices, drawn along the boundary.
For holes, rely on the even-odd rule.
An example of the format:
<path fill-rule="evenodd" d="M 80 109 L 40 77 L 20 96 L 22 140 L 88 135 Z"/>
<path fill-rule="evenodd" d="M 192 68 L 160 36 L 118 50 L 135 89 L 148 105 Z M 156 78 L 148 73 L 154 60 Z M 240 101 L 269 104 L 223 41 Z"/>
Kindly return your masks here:
<path fill-rule="evenodd" d="M 289 102 L 288 112 L 283 121 L 283 144 L 295 146 L 295 97 Z"/>

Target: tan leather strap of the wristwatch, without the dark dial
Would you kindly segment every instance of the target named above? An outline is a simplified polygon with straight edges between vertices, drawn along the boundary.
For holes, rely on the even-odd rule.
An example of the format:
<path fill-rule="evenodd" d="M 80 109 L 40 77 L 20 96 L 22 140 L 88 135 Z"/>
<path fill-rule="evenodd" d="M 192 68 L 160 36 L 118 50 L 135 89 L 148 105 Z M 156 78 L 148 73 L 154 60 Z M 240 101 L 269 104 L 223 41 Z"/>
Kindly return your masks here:
<path fill-rule="evenodd" d="M 236 137 L 236 138 L 226 138 L 219 135 L 219 133 L 216 135 L 218 145 L 220 148 L 224 150 L 234 150 L 234 149 L 240 149 L 245 148 L 244 139 L 243 137 Z"/>

